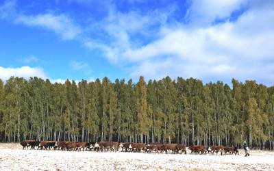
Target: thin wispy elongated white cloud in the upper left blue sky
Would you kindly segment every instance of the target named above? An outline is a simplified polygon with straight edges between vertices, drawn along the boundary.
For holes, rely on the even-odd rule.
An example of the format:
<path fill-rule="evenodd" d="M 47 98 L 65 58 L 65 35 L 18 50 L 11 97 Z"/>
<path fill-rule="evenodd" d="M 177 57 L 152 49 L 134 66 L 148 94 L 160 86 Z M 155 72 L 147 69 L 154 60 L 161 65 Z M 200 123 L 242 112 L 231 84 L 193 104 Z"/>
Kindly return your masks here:
<path fill-rule="evenodd" d="M 69 16 L 64 14 L 38 14 L 35 16 L 19 15 L 17 23 L 23 23 L 31 27 L 42 27 L 54 31 L 64 40 L 77 38 L 82 33 L 82 29 L 77 26 Z"/>

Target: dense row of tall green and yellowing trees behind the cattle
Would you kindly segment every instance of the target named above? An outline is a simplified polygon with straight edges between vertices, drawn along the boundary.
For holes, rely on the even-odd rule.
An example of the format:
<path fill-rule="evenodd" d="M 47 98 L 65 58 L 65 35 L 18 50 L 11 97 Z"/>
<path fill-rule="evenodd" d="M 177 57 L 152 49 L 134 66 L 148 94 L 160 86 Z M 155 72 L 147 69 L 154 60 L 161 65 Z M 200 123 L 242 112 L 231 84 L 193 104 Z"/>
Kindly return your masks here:
<path fill-rule="evenodd" d="M 0 141 L 274 145 L 274 86 L 199 79 L 0 79 Z"/>

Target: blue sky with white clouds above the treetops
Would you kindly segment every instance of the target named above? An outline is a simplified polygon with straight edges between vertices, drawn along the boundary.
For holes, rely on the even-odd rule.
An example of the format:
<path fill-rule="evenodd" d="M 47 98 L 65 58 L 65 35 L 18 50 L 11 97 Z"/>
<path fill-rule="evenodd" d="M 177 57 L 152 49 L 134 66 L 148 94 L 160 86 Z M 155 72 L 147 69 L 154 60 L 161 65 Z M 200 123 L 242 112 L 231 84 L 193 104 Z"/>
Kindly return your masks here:
<path fill-rule="evenodd" d="M 0 79 L 11 76 L 274 86 L 274 1 L 0 1 Z"/>

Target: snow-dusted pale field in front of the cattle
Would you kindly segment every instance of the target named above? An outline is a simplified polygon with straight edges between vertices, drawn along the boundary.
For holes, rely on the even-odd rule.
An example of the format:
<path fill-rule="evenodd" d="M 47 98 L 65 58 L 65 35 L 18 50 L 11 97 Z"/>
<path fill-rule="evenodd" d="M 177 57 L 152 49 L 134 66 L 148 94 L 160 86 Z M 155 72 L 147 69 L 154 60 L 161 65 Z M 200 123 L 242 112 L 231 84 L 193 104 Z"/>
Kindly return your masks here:
<path fill-rule="evenodd" d="M 62 150 L 23 150 L 0 144 L 0 170 L 274 170 L 274 152 L 240 155 L 171 155 Z"/>

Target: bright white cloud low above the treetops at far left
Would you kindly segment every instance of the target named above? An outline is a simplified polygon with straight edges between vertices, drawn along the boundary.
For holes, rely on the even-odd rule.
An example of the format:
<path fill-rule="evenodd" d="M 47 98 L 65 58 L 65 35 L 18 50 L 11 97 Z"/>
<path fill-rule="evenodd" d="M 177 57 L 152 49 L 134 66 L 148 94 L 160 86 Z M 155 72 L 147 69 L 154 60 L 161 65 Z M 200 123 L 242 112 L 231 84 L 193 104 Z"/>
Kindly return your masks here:
<path fill-rule="evenodd" d="M 22 66 L 21 68 L 3 68 L 0 66 L 0 79 L 5 81 L 10 79 L 11 76 L 23 77 L 24 79 L 29 79 L 29 77 L 48 78 L 43 68 L 40 67 L 31 68 L 29 66 Z"/>

